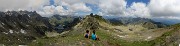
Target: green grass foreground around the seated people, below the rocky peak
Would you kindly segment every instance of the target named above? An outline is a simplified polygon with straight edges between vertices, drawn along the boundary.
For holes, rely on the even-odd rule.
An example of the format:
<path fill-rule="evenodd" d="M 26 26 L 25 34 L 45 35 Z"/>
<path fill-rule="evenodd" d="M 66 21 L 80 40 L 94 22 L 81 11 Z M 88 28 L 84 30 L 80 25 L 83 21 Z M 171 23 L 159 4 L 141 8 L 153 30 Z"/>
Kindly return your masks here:
<path fill-rule="evenodd" d="M 97 19 L 102 20 L 97 17 Z M 93 23 L 94 24 L 94 23 Z M 85 25 L 87 25 L 85 23 Z M 84 27 L 84 26 L 83 26 Z M 86 27 L 86 26 L 85 26 Z M 96 34 L 100 38 L 100 41 L 94 41 L 91 39 L 84 38 L 85 31 L 72 30 L 64 36 L 57 36 L 53 38 L 40 38 L 35 42 L 29 44 L 30 46 L 168 46 L 167 37 L 174 35 L 179 29 L 180 24 L 172 25 L 171 27 L 166 27 L 170 30 L 164 33 L 162 36 L 152 40 L 152 41 L 126 41 L 120 39 L 120 37 L 114 36 L 113 31 L 106 31 L 102 28 L 96 29 Z M 174 42 L 174 41 L 173 41 Z M 173 44 L 172 46 L 177 46 Z"/>

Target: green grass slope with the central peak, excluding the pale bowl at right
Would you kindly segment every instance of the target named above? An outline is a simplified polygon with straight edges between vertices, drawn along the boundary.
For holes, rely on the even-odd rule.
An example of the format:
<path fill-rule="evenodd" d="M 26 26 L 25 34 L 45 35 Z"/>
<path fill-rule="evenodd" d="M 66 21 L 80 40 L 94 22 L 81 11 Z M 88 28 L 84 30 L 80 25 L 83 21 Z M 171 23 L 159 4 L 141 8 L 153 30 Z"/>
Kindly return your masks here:
<path fill-rule="evenodd" d="M 102 24 L 106 23 L 103 19 L 86 17 L 73 29 L 62 33 L 56 37 L 44 37 L 34 40 L 28 44 L 30 46 L 177 46 L 180 42 L 180 24 L 172 25 L 164 29 L 172 29 L 165 32 L 160 37 L 151 41 L 130 41 L 123 40 L 115 36 L 115 31 L 107 31 Z M 93 21 L 94 20 L 94 21 Z M 103 21 L 101 21 L 103 20 Z M 101 25 L 100 25 L 101 24 Z M 106 23 L 107 24 L 107 23 Z M 96 27 L 96 35 L 100 41 L 84 38 L 85 30 L 92 31 Z"/>

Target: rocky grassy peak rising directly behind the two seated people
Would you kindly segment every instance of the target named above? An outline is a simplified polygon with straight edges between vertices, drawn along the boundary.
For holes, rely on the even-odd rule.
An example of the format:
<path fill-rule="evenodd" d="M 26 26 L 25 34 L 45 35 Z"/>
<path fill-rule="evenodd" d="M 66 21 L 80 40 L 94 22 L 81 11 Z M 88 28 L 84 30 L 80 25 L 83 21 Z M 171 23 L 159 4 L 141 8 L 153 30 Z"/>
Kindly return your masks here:
<path fill-rule="evenodd" d="M 101 23 L 106 22 L 102 16 L 99 15 L 93 15 L 92 13 L 90 15 L 87 15 L 81 20 L 79 24 L 77 24 L 75 27 L 80 27 L 82 29 L 90 29 L 90 30 L 96 30 L 98 28 L 101 28 Z"/>

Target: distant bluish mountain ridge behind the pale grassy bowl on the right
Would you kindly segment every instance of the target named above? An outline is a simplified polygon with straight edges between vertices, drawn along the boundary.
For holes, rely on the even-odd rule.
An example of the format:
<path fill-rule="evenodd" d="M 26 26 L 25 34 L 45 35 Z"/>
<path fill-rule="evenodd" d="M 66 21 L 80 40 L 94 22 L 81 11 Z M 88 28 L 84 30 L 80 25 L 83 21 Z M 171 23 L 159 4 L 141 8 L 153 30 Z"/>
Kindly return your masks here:
<path fill-rule="evenodd" d="M 161 22 L 155 22 L 151 19 L 148 18 L 131 18 L 131 17 L 118 17 L 118 18 L 112 18 L 108 20 L 116 20 L 117 22 L 120 21 L 124 25 L 142 25 L 147 28 L 162 28 L 166 27 L 166 24 L 163 24 Z"/>

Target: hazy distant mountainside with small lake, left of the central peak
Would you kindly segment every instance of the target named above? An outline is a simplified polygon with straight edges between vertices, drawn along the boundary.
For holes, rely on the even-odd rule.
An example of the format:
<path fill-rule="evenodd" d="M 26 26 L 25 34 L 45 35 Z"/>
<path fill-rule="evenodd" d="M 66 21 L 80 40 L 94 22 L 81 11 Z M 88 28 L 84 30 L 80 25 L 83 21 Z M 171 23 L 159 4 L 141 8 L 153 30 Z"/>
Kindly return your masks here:
<path fill-rule="evenodd" d="M 64 30 L 71 29 L 80 21 L 80 17 L 77 16 L 61 16 L 53 15 L 49 17 L 49 23 L 52 25 L 53 29 L 61 33 Z"/>

